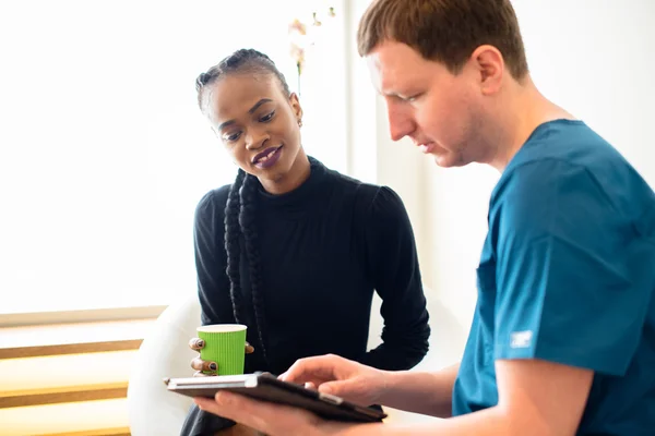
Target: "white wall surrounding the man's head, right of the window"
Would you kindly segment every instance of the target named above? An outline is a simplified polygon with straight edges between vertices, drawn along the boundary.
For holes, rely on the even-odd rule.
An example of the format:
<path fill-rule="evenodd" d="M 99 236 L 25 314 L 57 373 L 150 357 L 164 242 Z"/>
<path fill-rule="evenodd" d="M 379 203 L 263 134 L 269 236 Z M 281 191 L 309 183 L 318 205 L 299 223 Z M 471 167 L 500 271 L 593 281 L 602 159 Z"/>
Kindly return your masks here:
<path fill-rule="evenodd" d="M 368 0 L 355 1 L 350 23 L 356 29 Z M 655 186 L 655 29 L 652 0 L 514 0 L 533 78 L 547 97 L 586 121 L 610 141 L 646 181 Z M 352 35 L 355 44 L 354 31 Z M 361 63 L 356 52 L 353 65 Z M 365 83 L 362 65 L 352 74 Z M 369 113 L 354 120 L 356 132 L 373 132 L 354 155 L 367 149 L 376 159 L 376 181 L 390 184 L 404 198 L 414 223 L 426 283 L 468 325 L 476 301 L 475 268 L 487 231 L 488 198 L 499 174 L 474 165 L 440 169 L 405 141 L 389 140 L 384 106 L 356 87 L 353 100 Z M 374 104 L 371 101 L 376 99 Z M 366 102 L 362 102 L 366 100 Z M 371 109 L 372 108 L 372 109 Z M 374 144 L 371 144 L 373 143 Z M 352 143 L 353 144 L 353 143 Z M 374 148 L 374 152 L 371 152 Z M 353 157 L 352 156 L 352 157 Z M 364 160 L 355 159 L 356 175 Z"/>

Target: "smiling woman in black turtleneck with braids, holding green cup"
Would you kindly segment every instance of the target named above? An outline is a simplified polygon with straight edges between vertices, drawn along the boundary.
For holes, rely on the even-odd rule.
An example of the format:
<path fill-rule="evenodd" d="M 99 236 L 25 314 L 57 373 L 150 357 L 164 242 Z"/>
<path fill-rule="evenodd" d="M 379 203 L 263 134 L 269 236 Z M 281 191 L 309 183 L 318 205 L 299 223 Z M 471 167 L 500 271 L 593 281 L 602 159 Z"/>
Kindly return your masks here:
<path fill-rule="evenodd" d="M 298 97 L 265 55 L 236 51 L 201 74 L 196 89 L 240 168 L 196 208 L 202 324 L 248 326 L 254 351 L 247 373 L 282 374 L 299 358 L 324 353 L 383 370 L 420 362 L 430 329 L 401 198 L 305 154 Z M 383 301 L 383 343 L 367 351 L 373 290 Z M 200 360 L 192 366 L 215 370 Z M 182 434 L 226 425 L 193 408 Z"/>

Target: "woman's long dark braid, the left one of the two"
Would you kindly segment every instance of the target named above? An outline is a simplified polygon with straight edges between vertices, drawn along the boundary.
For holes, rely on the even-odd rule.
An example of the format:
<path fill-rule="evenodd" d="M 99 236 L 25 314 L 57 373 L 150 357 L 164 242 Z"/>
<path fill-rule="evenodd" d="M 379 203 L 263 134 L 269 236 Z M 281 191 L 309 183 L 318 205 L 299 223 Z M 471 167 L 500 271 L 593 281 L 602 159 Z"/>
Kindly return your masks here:
<path fill-rule="evenodd" d="M 242 294 L 241 294 L 241 277 L 239 274 L 239 264 L 241 258 L 241 249 L 239 246 L 239 235 L 241 229 L 239 227 L 239 215 L 241 210 L 241 198 L 239 191 L 243 185 L 246 172 L 239 170 L 237 179 L 229 189 L 227 204 L 225 205 L 225 252 L 227 253 L 227 267 L 225 271 L 229 278 L 229 296 L 233 303 L 235 320 L 243 324 Z"/>

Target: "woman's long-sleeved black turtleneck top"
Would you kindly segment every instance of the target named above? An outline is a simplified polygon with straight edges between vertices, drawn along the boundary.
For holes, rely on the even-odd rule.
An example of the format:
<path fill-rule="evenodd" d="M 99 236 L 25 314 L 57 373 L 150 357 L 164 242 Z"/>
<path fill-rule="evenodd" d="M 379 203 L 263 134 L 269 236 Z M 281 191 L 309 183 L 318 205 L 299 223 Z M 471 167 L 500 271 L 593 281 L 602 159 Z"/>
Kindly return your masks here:
<path fill-rule="evenodd" d="M 382 370 L 408 370 L 428 351 L 428 312 L 412 226 L 390 187 L 361 183 L 310 158 L 298 189 L 272 195 L 260 186 L 258 245 L 267 361 L 258 350 L 248 259 L 240 277 L 248 341 L 246 373 L 285 372 L 296 360 L 334 353 Z M 202 324 L 234 323 L 225 272 L 229 185 L 199 203 L 194 238 Z M 243 245 L 242 245 L 243 246 Z M 373 292 L 382 299 L 383 343 L 367 351 Z M 224 420 L 199 411 L 184 435 L 213 435 Z"/>

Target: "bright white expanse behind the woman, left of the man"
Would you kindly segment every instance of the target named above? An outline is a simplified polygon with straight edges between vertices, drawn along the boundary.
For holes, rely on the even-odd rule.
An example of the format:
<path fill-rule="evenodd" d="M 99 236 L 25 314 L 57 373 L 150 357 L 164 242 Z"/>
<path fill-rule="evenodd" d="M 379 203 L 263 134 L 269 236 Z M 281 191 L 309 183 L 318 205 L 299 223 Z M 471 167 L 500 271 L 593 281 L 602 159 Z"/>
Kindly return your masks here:
<path fill-rule="evenodd" d="M 33 296 L 0 314 L 195 293 L 194 209 L 237 167 L 194 81 L 233 50 L 302 85 L 306 150 L 346 171 L 344 1 L 0 1 L 0 294 Z M 313 11 L 300 83 L 288 24 Z"/>

